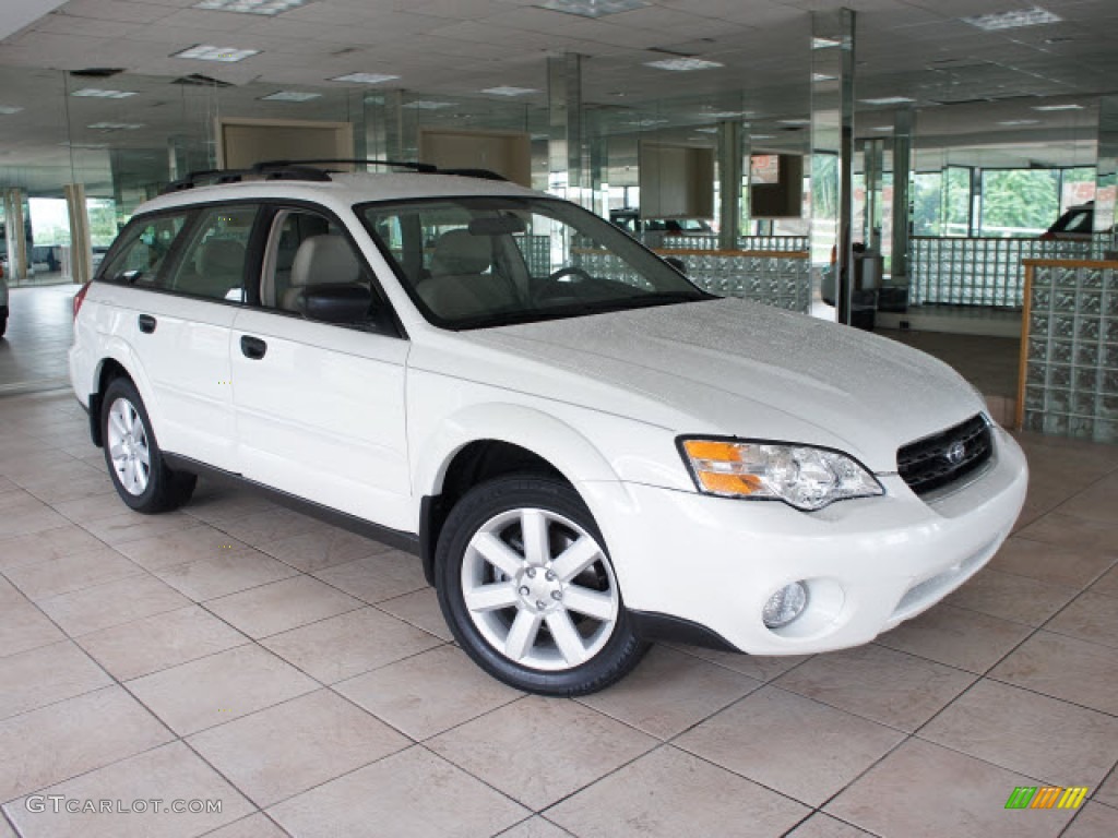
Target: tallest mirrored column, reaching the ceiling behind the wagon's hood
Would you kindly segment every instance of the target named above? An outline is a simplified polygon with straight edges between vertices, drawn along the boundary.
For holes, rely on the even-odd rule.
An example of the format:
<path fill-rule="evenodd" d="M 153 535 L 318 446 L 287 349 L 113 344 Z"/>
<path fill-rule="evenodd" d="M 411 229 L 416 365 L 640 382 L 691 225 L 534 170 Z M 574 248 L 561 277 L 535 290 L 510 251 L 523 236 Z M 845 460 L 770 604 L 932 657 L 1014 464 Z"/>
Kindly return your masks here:
<path fill-rule="evenodd" d="M 850 9 L 812 12 L 812 255 L 834 247 L 840 323 L 851 321 L 854 274 L 854 21 Z"/>

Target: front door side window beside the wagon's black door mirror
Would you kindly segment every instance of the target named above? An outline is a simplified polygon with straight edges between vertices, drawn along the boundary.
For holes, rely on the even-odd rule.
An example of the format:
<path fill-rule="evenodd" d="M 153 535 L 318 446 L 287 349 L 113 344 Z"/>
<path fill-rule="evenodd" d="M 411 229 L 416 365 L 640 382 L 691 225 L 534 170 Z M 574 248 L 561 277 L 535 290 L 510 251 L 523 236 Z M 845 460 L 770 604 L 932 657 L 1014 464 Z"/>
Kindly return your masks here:
<path fill-rule="evenodd" d="M 307 210 L 276 213 L 260 303 L 309 320 L 390 331 L 387 305 L 342 228 Z"/>

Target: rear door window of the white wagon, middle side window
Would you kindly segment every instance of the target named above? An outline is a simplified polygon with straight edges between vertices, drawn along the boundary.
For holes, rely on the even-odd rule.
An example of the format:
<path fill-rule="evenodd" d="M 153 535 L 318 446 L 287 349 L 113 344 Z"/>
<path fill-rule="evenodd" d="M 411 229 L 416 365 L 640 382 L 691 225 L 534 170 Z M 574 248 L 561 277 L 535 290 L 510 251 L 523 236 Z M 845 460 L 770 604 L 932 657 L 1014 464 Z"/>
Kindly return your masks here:
<path fill-rule="evenodd" d="M 257 209 L 237 204 L 203 210 L 164 287 L 209 299 L 245 302 L 245 261 Z"/>

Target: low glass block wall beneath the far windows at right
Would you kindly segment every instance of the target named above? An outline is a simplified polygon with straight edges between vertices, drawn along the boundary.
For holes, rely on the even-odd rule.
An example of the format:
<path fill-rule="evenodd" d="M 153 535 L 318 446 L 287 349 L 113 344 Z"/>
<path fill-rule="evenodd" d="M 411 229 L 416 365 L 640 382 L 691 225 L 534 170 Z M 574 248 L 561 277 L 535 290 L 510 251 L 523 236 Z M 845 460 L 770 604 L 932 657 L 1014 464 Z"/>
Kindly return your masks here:
<path fill-rule="evenodd" d="M 1039 239 L 912 239 L 909 305 L 1021 308 L 1022 259 L 1089 259 L 1093 245 Z"/>

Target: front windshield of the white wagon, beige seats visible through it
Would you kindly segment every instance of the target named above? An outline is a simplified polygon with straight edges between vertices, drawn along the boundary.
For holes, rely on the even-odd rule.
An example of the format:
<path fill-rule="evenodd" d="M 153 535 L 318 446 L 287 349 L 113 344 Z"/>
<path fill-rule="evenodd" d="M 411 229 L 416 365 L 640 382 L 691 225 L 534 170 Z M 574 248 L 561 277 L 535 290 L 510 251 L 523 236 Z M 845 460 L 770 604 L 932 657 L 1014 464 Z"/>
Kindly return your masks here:
<path fill-rule="evenodd" d="M 358 208 L 424 315 L 483 328 L 708 299 L 613 225 L 548 198 Z"/>

